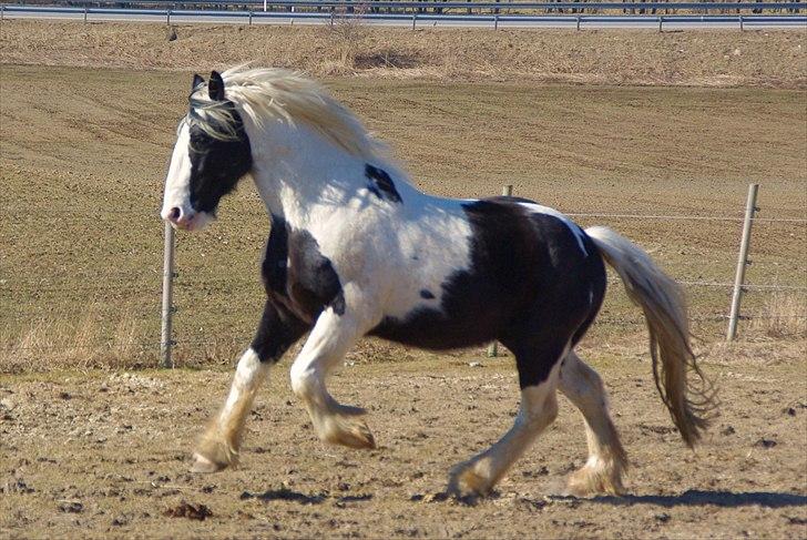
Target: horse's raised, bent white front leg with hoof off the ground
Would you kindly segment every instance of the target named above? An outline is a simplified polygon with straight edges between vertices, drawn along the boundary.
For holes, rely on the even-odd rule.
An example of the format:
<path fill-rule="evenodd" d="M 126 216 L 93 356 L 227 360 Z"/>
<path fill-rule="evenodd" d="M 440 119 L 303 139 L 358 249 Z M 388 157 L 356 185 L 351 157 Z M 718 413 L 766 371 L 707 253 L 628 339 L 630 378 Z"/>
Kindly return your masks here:
<path fill-rule="evenodd" d="M 325 387 L 327 376 L 361 334 L 361 324 L 354 315 L 339 315 L 330 307 L 323 312 L 292 365 L 292 389 L 308 409 L 321 440 L 351 448 L 375 448 L 372 434 L 358 418 L 365 410 L 339 404 Z"/>

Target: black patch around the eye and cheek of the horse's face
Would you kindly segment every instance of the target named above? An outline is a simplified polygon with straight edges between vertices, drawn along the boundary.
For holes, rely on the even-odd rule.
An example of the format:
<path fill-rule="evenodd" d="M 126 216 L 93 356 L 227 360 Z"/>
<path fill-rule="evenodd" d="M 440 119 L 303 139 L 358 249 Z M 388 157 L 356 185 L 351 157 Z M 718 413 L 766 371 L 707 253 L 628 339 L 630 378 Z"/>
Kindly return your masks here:
<path fill-rule="evenodd" d="M 235 139 L 219 141 L 213 139 L 200 128 L 202 119 L 188 115 L 191 143 L 191 206 L 196 212 L 216 213 L 222 197 L 238 184 L 253 165 L 249 137 L 244 131 L 244 122 L 235 110 L 233 102 L 222 106 L 228 109 L 234 120 Z"/>

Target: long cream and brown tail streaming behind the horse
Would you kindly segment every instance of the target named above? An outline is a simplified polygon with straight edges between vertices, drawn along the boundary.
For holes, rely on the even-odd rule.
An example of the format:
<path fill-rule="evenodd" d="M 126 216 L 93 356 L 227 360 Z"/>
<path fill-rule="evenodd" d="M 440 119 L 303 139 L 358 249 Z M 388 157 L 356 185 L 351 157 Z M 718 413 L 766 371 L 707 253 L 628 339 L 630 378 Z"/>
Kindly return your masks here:
<path fill-rule="evenodd" d="M 624 236 L 599 226 L 585 233 L 620 275 L 627 296 L 644 312 L 656 388 L 684 442 L 693 447 L 706 428 L 705 415 L 714 407 L 714 399 L 689 345 L 684 292 Z M 701 379 L 701 388 L 693 389 L 687 383 L 689 370 Z"/>

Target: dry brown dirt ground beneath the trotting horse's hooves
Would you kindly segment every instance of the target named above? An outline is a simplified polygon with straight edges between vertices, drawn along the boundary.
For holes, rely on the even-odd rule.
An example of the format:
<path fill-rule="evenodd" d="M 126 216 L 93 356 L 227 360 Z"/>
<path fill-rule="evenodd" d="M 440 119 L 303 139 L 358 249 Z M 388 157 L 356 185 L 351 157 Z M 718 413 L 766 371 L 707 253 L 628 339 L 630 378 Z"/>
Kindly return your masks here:
<path fill-rule="evenodd" d="M 706 365 L 723 404 L 695 454 L 646 360 L 595 355 L 631 458 L 627 497 L 562 496 L 585 460 L 580 417 L 562 400 L 476 506 L 445 500 L 446 472 L 512 424 L 511 358 L 346 366 L 331 387 L 369 409 L 379 449 L 365 452 L 316 439 L 284 363 L 249 417 L 242 467 L 213 476 L 186 470 L 227 373 L 2 376 L 0 536 L 805 538 L 807 363 L 726 353 Z"/>

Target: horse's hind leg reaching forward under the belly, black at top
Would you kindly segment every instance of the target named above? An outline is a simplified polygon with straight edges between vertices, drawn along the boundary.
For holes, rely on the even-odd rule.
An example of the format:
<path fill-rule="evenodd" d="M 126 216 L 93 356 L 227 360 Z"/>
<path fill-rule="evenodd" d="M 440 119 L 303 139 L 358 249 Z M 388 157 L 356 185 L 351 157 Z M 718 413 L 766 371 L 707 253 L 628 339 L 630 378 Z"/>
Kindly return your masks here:
<path fill-rule="evenodd" d="M 531 354 L 510 348 L 515 354 L 521 384 L 521 405 L 515 422 L 488 450 L 451 470 L 448 491 L 454 496 L 488 493 L 558 416 L 555 390 L 564 346 Z"/>

